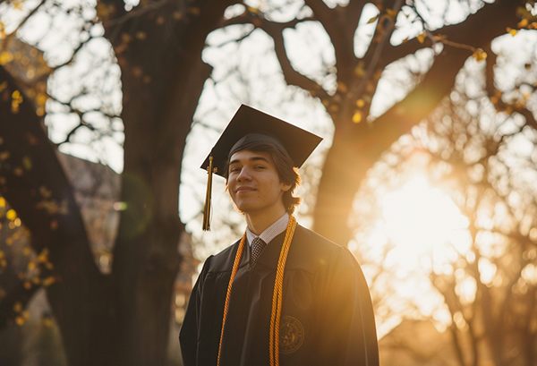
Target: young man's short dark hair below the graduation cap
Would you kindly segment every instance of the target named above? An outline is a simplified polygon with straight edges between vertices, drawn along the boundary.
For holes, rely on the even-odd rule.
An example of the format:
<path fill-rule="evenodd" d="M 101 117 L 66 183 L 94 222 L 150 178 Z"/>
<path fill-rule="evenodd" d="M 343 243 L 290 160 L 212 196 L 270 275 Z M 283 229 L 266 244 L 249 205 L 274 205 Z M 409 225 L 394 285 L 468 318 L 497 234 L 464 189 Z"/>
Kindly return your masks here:
<path fill-rule="evenodd" d="M 253 145 L 249 146 L 247 150 L 253 152 L 267 152 L 270 157 L 272 157 L 272 161 L 274 161 L 274 165 L 276 166 L 277 175 L 280 181 L 284 184 L 288 184 L 291 186 L 289 190 L 284 192 L 282 200 L 284 201 L 284 206 L 286 207 L 287 213 L 289 215 L 292 215 L 294 213 L 294 209 L 296 209 L 296 207 L 302 201 L 300 197 L 294 197 L 293 195 L 296 188 L 302 183 L 302 179 L 300 177 L 300 174 L 298 173 L 298 168 L 294 166 L 291 157 L 289 157 L 286 152 L 282 151 L 281 149 L 277 149 L 274 144 L 267 141 L 260 141 L 254 143 Z M 224 173 L 226 177 L 226 182 L 227 177 L 229 176 L 230 158 L 231 157 L 227 159 L 226 169 Z"/>

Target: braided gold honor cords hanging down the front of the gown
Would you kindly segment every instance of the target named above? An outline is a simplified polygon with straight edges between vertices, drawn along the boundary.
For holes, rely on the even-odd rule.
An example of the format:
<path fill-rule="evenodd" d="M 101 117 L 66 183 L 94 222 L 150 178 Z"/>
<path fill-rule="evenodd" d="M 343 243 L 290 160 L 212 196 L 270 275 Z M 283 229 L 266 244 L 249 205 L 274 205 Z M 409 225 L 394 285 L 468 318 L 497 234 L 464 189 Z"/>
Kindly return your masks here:
<path fill-rule="evenodd" d="M 289 224 L 286 229 L 286 238 L 280 251 L 280 257 L 277 260 L 276 280 L 274 282 L 274 294 L 272 295 L 272 314 L 270 316 L 270 338 L 268 343 L 268 353 L 270 355 L 270 366 L 279 366 L 279 322 L 282 312 L 282 295 L 284 288 L 284 269 L 286 268 L 287 253 L 293 240 L 294 229 L 296 228 L 296 219 L 289 217 Z M 220 344 L 218 345 L 218 360 L 217 366 L 220 365 L 220 353 L 222 351 L 222 338 L 224 338 L 224 327 L 226 326 L 227 309 L 229 308 L 229 297 L 231 295 L 231 287 L 233 285 L 234 277 L 237 274 L 239 263 L 243 257 L 244 241 L 246 240 L 246 233 L 243 234 L 243 239 L 239 243 L 239 248 L 235 254 L 233 268 L 231 270 L 231 277 L 229 277 L 229 284 L 227 284 L 226 302 L 224 304 L 224 317 L 222 319 L 222 330 L 220 332 Z"/>

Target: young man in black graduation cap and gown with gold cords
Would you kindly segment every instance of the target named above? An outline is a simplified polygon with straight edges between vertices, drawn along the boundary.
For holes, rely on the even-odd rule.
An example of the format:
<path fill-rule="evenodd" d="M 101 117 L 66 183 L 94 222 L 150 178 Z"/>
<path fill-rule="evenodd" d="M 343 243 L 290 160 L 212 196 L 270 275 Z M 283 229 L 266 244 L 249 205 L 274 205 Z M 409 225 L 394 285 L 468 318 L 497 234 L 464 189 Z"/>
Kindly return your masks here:
<path fill-rule="evenodd" d="M 360 266 L 293 217 L 297 168 L 319 142 L 241 106 L 211 150 L 202 167 L 226 178 L 247 228 L 206 260 L 192 290 L 179 336 L 185 366 L 379 364 Z"/>

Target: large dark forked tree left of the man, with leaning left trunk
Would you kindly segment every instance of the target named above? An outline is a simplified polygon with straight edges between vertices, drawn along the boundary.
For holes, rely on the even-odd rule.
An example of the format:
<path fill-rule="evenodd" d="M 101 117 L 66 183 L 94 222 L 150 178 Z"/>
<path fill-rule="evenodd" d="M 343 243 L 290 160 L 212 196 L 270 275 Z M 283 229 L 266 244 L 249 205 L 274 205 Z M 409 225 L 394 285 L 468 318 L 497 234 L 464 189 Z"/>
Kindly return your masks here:
<path fill-rule="evenodd" d="M 21 6 L 3 5 L 4 10 Z M 9 154 L 2 165 L 3 195 L 30 229 L 33 248 L 47 249 L 54 264 L 56 280 L 47 287 L 47 297 L 72 364 L 165 362 L 171 294 L 181 260 L 177 244 L 183 224 L 177 202 L 183 145 L 210 72 L 200 59 L 203 42 L 226 6 L 221 1 L 160 2 L 140 4 L 127 13 L 123 2 L 97 5 L 105 36 L 122 68 L 124 93 L 124 210 L 110 275 L 98 271 L 79 209 L 36 106 L 1 70 L 1 134 Z M 13 33 L 4 36 L 2 30 L 3 38 L 14 37 L 41 11 L 89 18 L 81 23 L 72 59 L 97 38 L 93 27 L 98 21 L 84 13 L 87 5 L 46 1 L 30 5 Z M 92 120 L 93 108 L 80 107 L 85 94 L 87 90 L 79 89 L 70 99 L 57 98 L 79 116 L 65 142 L 74 140 L 77 130 L 89 129 L 97 137 L 107 134 L 103 130 L 109 127 Z M 98 111 L 113 120 L 115 115 L 103 109 Z M 24 289 L 21 283 L 21 289 L 6 294 L 4 326 L 15 315 L 14 304 L 24 303 L 34 288 Z"/>

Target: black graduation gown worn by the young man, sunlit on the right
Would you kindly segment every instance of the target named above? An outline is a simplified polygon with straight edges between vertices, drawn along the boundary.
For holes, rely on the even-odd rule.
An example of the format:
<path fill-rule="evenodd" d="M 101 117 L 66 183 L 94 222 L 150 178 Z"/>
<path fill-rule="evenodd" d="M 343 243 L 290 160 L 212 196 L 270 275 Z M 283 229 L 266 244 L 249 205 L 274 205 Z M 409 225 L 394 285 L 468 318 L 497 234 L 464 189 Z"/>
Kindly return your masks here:
<path fill-rule="evenodd" d="M 285 233 L 253 268 L 244 243 L 234 278 L 221 366 L 269 365 L 268 338 L 277 261 Z M 185 366 L 215 366 L 224 302 L 239 242 L 210 256 L 200 273 L 179 335 Z M 379 364 L 371 296 L 354 256 L 296 226 L 286 261 L 279 337 L 280 365 Z"/>

